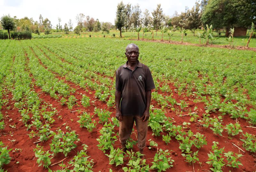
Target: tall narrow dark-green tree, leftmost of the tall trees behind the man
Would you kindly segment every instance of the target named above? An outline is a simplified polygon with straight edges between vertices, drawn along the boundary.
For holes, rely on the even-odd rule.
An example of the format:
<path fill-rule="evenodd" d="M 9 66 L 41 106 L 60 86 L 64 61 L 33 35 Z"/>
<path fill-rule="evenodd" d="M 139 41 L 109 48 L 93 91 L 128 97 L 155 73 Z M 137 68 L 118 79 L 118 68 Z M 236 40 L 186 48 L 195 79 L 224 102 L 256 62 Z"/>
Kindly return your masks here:
<path fill-rule="evenodd" d="M 124 27 L 125 21 L 126 21 L 126 8 L 123 1 L 121 1 L 117 5 L 116 19 L 115 19 L 116 28 L 120 30 L 120 37 L 122 37 L 122 27 Z"/>

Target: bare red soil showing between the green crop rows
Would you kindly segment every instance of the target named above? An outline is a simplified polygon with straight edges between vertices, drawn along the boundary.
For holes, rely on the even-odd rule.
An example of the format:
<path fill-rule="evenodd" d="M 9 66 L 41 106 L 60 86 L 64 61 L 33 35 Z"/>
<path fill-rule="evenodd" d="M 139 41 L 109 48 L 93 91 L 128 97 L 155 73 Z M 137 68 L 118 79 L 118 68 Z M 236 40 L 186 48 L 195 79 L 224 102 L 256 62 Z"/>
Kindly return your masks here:
<path fill-rule="evenodd" d="M 43 64 L 41 64 L 43 65 Z M 46 66 L 44 66 L 45 68 L 47 68 Z M 64 78 L 60 78 L 60 76 L 58 76 L 56 74 L 56 76 L 59 79 L 64 79 Z M 34 79 L 33 79 L 34 82 Z M 72 130 L 76 130 L 76 134 L 79 135 L 79 139 L 80 141 L 77 144 L 77 147 L 68 153 L 68 158 L 66 160 L 63 161 L 63 163 L 68 164 L 68 161 L 71 160 L 73 158 L 73 156 L 76 155 L 76 153 L 80 150 L 82 150 L 83 146 L 82 144 L 86 144 L 89 146 L 88 150 L 87 150 L 87 154 L 89 156 L 91 156 L 90 158 L 93 159 L 94 162 L 94 166 L 93 166 L 93 171 L 109 171 L 108 168 L 112 168 L 113 171 L 122 171 L 122 167 L 124 167 L 125 165 L 122 166 L 118 166 L 115 167 L 115 165 L 109 165 L 108 164 L 108 157 L 98 149 L 97 145 L 98 145 L 98 141 L 96 141 L 96 138 L 98 138 L 100 136 L 99 133 L 99 129 L 102 128 L 102 124 L 98 123 L 97 125 L 97 129 L 94 129 L 91 133 L 88 132 L 86 130 L 86 128 L 80 128 L 79 123 L 77 123 L 76 121 L 79 119 L 77 116 L 80 115 L 82 112 L 86 111 L 87 113 L 90 113 L 91 115 L 93 115 L 93 111 L 94 111 L 94 107 L 97 108 L 102 108 L 102 109 L 107 109 L 108 111 L 112 112 L 111 116 L 115 116 L 115 109 L 114 108 L 108 108 L 106 103 L 99 101 L 97 98 L 94 98 L 94 93 L 95 91 L 87 89 L 84 90 L 82 88 L 80 88 L 79 86 L 77 86 L 76 84 L 72 83 L 72 82 L 68 82 L 65 81 L 71 88 L 75 88 L 76 92 L 72 93 L 71 95 L 74 95 L 76 97 L 76 99 L 78 99 L 77 101 L 77 105 L 73 106 L 73 109 L 70 111 L 67 106 L 61 106 L 60 103 L 55 100 L 54 98 L 50 97 L 49 94 L 46 94 L 44 92 L 42 92 L 41 88 L 38 88 L 37 86 L 34 86 L 34 90 L 37 92 L 37 94 L 39 95 L 40 99 L 42 101 L 48 102 L 50 104 L 52 104 L 52 107 L 55 107 L 57 112 L 59 112 L 58 114 L 56 114 L 54 116 L 55 122 L 52 124 L 52 131 L 55 131 L 57 128 L 60 128 L 61 130 L 63 130 L 64 132 L 66 131 L 65 127 L 69 126 Z M 110 81 L 111 82 L 111 81 Z M 204 110 L 204 103 L 194 103 L 193 102 L 193 97 L 186 97 L 184 95 L 179 96 L 174 89 L 176 89 L 172 83 L 169 83 L 170 89 L 172 90 L 173 93 L 173 98 L 175 98 L 178 102 L 179 100 L 186 100 L 189 104 L 188 108 L 194 109 L 195 106 L 197 106 L 198 108 L 198 115 L 200 118 L 203 117 L 203 113 L 205 113 Z M 167 93 L 165 92 L 161 92 L 158 91 L 160 94 L 163 95 L 167 95 Z M 80 100 L 82 98 L 81 94 L 85 94 L 86 96 L 90 97 L 91 99 L 91 103 L 88 108 L 84 108 L 81 103 Z M 22 149 L 22 151 L 14 151 L 14 152 L 10 152 L 10 156 L 12 157 L 12 161 L 8 164 L 8 165 L 4 165 L 4 169 L 8 170 L 8 171 L 48 171 L 47 169 L 44 169 L 42 166 L 38 167 L 38 164 L 36 163 L 37 158 L 35 157 L 35 154 L 33 152 L 33 148 L 36 148 L 36 144 L 34 144 L 33 142 L 37 141 L 37 138 L 32 138 L 29 139 L 28 134 L 30 131 L 27 131 L 26 127 L 24 126 L 24 124 L 22 123 L 22 121 L 20 121 L 21 119 L 21 115 L 18 111 L 18 109 L 14 108 L 14 101 L 12 100 L 12 94 L 8 93 L 7 95 L 4 96 L 4 98 L 9 100 L 9 103 L 6 106 L 2 107 L 1 112 L 5 115 L 8 115 L 5 117 L 4 122 L 5 122 L 5 129 L 2 130 L 2 133 L 0 134 L 0 139 L 1 141 L 3 141 L 3 143 L 5 145 L 8 146 L 8 149 L 12 148 L 12 151 L 14 151 L 15 148 L 20 148 Z M 92 101 L 94 101 L 94 103 L 92 103 Z M 152 100 L 151 104 L 155 107 L 155 108 L 160 108 L 155 100 Z M 177 107 L 177 106 L 175 106 Z M 80 110 L 80 112 L 76 111 L 76 110 Z M 175 125 L 182 125 L 182 123 L 184 121 L 186 122 L 190 122 L 189 116 L 177 116 L 175 112 L 171 111 L 168 108 L 165 108 L 166 110 L 166 116 L 173 118 L 173 123 Z M 76 111 L 76 112 L 74 112 Z M 187 112 L 183 112 L 183 114 L 186 114 Z M 58 119 L 57 117 L 61 115 L 61 119 Z M 211 113 L 211 117 L 215 117 L 216 115 L 218 115 L 217 113 Z M 10 120 L 12 119 L 12 120 Z M 99 121 L 98 117 L 96 115 L 94 115 L 94 117 L 92 118 L 93 120 L 96 120 L 97 122 Z M 228 115 L 225 115 L 223 117 L 223 125 L 225 126 L 228 123 L 235 123 L 234 119 L 231 119 Z M 66 123 L 66 125 L 63 125 L 64 123 Z M 215 136 L 212 132 L 211 129 L 209 128 L 204 128 L 202 127 L 200 124 L 196 123 L 196 122 L 190 122 L 191 125 L 189 126 L 190 129 L 193 131 L 193 133 L 196 132 L 200 132 L 201 134 L 204 134 L 206 141 L 207 141 L 207 145 L 204 145 L 203 148 L 201 148 L 199 150 L 199 160 L 200 162 L 202 162 L 202 164 L 198 164 L 195 163 L 194 164 L 194 168 L 195 171 L 205 171 L 205 170 L 209 170 L 210 166 L 208 164 L 206 164 L 205 162 L 208 159 L 208 155 L 207 153 L 209 153 L 209 151 L 211 150 L 211 146 L 212 146 L 212 142 L 213 141 L 218 141 L 219 142 L 219 148 L 225 147 L 225 151 L 232 151 L 235 153 L 241 153 L 244 156 L 242 156 L 241 162 L 243 164 L 243 166 L 239 166 L 238 169 L 235 168 L 228 168 L 225 167 L 223 169 L 224 172 L 228 172 L 230 171 L 234 171 L 234 172 L 238 172 L 238 171 L 255 171 L 255 167 L 254 167 L 254 157 L 252 156 L 252 154 L 250 154 L 248 151 L 245 151 L 244 148 L 242 147 L 243 142 L 240 141 L 240 135 L 237 135 L 235 137 L 233 137 L 231 140 L 228 138 L 227 133 L 225 133 L 225 131 L 223 132 L 223 137 L 220 136 Z M 248 126 L 249 124 L 243 120 L 243 119 L 239 119 L 239 123 L 241 124 L 241 126 Z M 9 125 L 16 125 L 16 128 L 11 128 L 9 127 Z M 116 132 L 118 132 L 118 128 L 116 127 Z M 135 128 L 134 128 L 135 129 Z M 135 129 L 136 131 L 136 129 Z M 251 134 L 256 134 L 255 129 L 252 128 L 243 128 L 243 132 L 248 132 Z M 166 133 L 162 133 L 162 134 L 166 134 Z M 13 135 L 13 136 L 11 136 Z M 136 135 L 135 133 L 132 133 L 131 136 L 134 140 L 136 140 Z M 187 162 L 185 162 L 185 158 L 181 156 L 181 151 L 179 149 L 179 142 L 175 139 L 172 138 L 171 143 L 166 145 L 163 140 L 162 137 L 156 137 L 156 136 L 152 136 L 152 130 L 149 128 L 148 129 L 148 139 L 152 139 L 154 140 L 157 144 L 158 144 L 158 149 L 162 148 L 163 150 L 168 149 L 168 150 L 172 150 L 172 158 L 175 160 L 175 162 L 173 163 L 173 167 L 170 168 L 167 171 L 193 171 L 193 166 L 189 165 Z M 15 141 L 14 141 L 15 140 Z M 49 144 L 51 143 L 51 139 L 49 139 L 48 141 L 42 142 L 42 143 L 38 143 L 41 146 L 44 146 L 44 150 L 49 150 L 50 146 Z M 238 148 L 236 148 L 235 146 L 232 145 L 232 143 L 236 144 L 237 146 L 239 146 L 240 148 L 242 148 L 245 153 L 240 152 L 238 150 Z M 147 147 L 144 149 L 144 153 L 146 154 L 146 159 L 147 163 L 150 164 L 150 162 L 152 161 L 152 158 L 154 157 L 155 153 L 156 153 L 156 148 L 153 148 L 151 150 L 148 149 L 149 146 L 149 142 L 146 143 Z M 119 142 L 116 141 L 114 147 L 119 147 Z M 193 147 L 193 151 L 196 151 L 197 149 L 195 147 Z M 134 146 L 133 151 L 138 151 L 137 146 Z M 108 152 L 106 152 L 108 153 Z M 60 160 L 62 160 L 64 157 L 63 153 L 59 153 L 57 156 L 55 156 L 51 161 L 52 164 L 55 162 L 58 162 Z M 18 164 L 17 161 L 19 161 Z M 128 160 L 126 160 L 124 162 L 124 164 L 128 163 Z M 151 165 L 151 164 L 150 164 Z M 57 170 L 60 169 L 60 167 L 58 165 L 54 165 L 52 167 L 50 167 L 52 170 Z"/>

